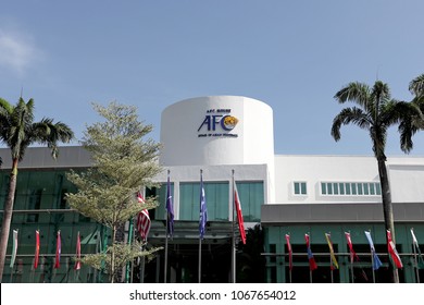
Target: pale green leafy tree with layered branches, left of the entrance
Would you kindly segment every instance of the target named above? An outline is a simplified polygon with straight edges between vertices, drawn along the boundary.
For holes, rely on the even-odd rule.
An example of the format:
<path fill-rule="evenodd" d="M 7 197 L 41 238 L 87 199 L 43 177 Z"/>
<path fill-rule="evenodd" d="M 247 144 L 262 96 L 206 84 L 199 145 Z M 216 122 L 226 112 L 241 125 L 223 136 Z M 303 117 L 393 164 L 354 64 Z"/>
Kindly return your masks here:
<path fill-rule="evenodd" d="M 144 141 L 152 126 L 138 121 L 135 107 L 111 102 L 108 107 L 93 103 L 93 108 L 104 121 L 87 126 L 82 142 L 93 164 L 85 172 L 67 174 L 78 191 L 66 194 L 66 199 L 71 208 L 111 229 L 107 251 L 82 260 L 99 269 L 104 265 L 109 281 L 114 282 L 127 261 L 158 251 L 140 251 L 140 244 L 125 244 L 116 233 L 141 209 L 157 206 L 154 198 L 141 206 L 136 193 L 154 185 L 152 178 L 161 171 L 160 144 Z"/>

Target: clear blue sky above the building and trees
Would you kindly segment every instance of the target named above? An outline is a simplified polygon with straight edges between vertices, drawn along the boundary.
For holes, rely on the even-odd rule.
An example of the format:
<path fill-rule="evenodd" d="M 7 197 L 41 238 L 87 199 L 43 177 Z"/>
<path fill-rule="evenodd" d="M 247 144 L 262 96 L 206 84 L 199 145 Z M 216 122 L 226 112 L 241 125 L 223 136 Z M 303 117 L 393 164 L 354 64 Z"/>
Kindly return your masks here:
<path fill-rule="evenodd" d="M 422 12 L 422 0 L 4 1 L 0 97 L 22 91 L 37 119 L 63 121 L 77 138 L 100 119 L 90 102 L 135 105 L 159 141 L 169 105 L 247 96 L 273 108 L 276 154 L 372 155 L 357 126 L 332 138 L 344 107 L 333 97 L 378 78 L 410 100 L 409 82 L 424 73 Z M 411 155 L 423 156 L 424 132 L 414 142 Z M 387 155 L 403 155 L 396 129 Z"/>

